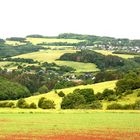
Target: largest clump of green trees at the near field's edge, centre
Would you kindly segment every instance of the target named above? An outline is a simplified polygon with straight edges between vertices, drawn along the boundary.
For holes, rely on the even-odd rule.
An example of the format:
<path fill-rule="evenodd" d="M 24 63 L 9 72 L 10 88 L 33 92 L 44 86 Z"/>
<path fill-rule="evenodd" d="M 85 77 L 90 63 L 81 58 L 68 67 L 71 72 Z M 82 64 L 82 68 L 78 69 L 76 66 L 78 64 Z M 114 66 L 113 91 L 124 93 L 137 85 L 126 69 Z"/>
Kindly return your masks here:
<path fill-rule="evenodd" d="M 102 104 L 96 100 L 92 89 L 76 89 L 63 97 L 62 109 L 101 109 Z"/>

